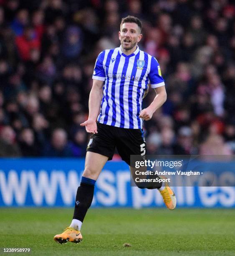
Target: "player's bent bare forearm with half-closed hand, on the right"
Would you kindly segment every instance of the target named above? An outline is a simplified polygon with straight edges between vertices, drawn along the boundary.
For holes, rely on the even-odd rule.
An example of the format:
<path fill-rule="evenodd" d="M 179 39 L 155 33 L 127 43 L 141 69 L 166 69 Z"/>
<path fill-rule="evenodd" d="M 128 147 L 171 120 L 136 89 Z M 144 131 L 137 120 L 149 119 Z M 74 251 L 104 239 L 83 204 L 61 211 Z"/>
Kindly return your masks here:
<path fill-rule="evenodd" d="M 152 103 L 147 107 L 144 108 L 139 117 L 143 118 L 145 121 L 148 121 L 152 118 L 153 113 L 162 107 L 163 103 L 167 100 L 167 92 L 165 86 L 154 88 L 156 92 L 156 97 L 152 101 Z"/>

